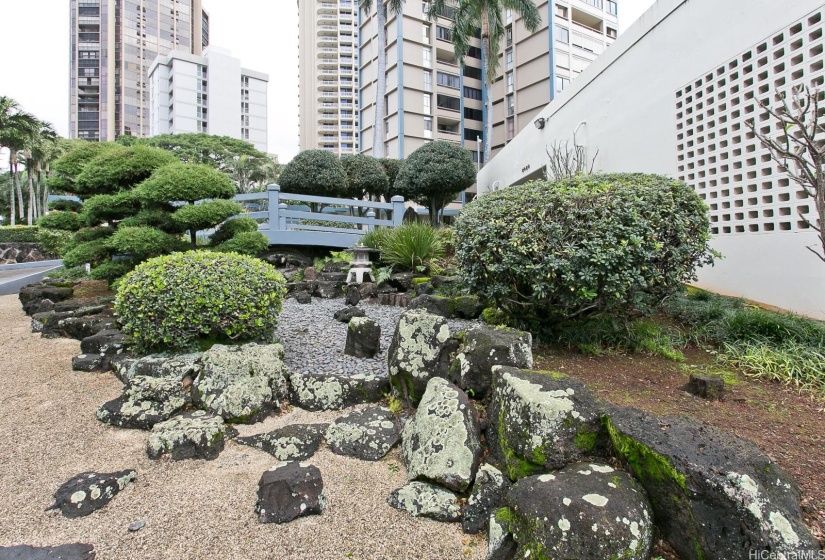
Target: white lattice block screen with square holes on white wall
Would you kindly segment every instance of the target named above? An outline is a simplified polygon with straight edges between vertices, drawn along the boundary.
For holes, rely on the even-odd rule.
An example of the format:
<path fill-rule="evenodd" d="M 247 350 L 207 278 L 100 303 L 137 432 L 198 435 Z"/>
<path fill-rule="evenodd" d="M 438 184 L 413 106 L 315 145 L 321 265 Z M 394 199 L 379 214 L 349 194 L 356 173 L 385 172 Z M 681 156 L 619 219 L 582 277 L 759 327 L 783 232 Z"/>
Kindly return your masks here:
<path fill-rule="evenodd" d="M 714 235 L 808 230 L 799 212 L 815 220 L 813 200 L 745 123 L 755 119 L 760 133 L 779 136 L 757 100 L 775 106 L 777 91 L 822 88 L 824 28 L 822 6 L 676 92 L 679 178 L 710 207 Z"/>

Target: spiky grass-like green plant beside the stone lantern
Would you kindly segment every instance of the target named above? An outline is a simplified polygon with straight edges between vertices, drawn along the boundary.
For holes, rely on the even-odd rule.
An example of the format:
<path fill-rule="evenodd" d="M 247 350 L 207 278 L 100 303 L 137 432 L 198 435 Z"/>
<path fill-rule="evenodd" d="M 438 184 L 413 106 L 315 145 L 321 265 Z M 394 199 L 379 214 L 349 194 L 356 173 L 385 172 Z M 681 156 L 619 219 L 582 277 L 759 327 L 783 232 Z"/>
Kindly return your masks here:
<path fill-rule="evenodd" d="M 425 272 L 444 255 L 438 230 L 423 222 L 407 222 L 388 230 L 381 261 L 399 270 Z"/>

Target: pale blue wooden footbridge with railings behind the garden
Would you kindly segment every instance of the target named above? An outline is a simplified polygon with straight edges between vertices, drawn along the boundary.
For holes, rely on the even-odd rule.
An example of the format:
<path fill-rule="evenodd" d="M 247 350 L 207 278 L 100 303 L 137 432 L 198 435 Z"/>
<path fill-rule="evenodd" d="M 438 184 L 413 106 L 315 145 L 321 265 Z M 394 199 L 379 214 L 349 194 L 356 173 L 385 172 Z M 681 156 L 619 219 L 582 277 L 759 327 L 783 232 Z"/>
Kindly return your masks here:
<path fill-rule="evenodd" d="M 244 216 L 266 220 L 259 231 L 266 235 L 270 245 L 318 245 L 322 247 L 352 247 L 376 226 L 397 227 L 404 218 L 404 198 L 392 197 L 390 202 L 370 202 L 352 198 L 328 198 L 286 194 L 278 185 L 269 185 L 266 192 L 241 194 L 236 202 L 247 207 L 263 207 L 266 210 L 251 211 Z M 310 205 L 324 205 L 320 212 L 313 212 Z M 388 215 L 390 218 L 381 218 Z M 330 225 L 314 225 L 312 221 L 332 222 Z M 307 223 L 309 221 L 309 223 Z M 340 227 L 337 224 L 340 223 Z"/>

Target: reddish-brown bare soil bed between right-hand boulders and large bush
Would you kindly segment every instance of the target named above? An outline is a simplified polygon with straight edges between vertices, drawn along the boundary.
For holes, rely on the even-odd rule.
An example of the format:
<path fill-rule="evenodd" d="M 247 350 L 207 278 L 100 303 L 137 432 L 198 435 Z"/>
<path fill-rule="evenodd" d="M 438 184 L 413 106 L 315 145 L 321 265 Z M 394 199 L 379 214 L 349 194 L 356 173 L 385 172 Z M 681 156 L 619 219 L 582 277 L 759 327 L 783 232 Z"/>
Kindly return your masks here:
<path fill-rule="evenodd" d="M 712 355 L 695 348 L 685 353 L 684 364 L 641 354 L 585 356 L 548 346 L 533 353 L 536 369 L 578 377 L 606 401 L 689 416 L 755 442 L 796 480 L 805 523 L 820 542 L 825 539 L 825 400 L 731 372 L 725 375 L 724 400 L 695 397 L 684 390 L 691 371 L 719 370 Z M 656 553 L 676 558 L 666 548 Z"/>

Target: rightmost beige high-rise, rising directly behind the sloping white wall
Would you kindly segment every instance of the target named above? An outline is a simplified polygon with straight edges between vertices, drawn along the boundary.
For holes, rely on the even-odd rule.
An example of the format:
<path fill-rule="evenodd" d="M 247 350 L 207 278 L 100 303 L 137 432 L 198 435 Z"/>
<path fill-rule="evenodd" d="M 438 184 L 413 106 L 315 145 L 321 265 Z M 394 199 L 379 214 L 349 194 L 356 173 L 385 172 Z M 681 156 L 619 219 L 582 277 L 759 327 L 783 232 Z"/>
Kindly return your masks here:
<path fill-rule="evenodd" d="M 495 154 L 616 39 L 618 0 L 544 0 L 530 33 L 505 10 L 499 78 L 493 84 Z"/>

